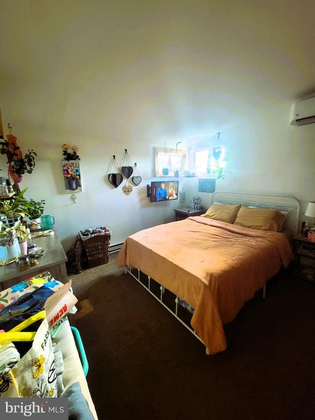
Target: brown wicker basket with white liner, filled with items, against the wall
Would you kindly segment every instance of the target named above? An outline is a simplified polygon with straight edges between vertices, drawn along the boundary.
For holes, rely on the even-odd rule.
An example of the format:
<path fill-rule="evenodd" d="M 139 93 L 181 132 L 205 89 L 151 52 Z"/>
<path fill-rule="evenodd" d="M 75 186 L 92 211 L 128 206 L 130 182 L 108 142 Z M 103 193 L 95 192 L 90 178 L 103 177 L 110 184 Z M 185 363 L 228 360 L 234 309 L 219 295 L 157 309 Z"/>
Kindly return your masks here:
<path fill-rule="evenodd" d="M 94 229 L 90 229 L 94 230 Z M 111 231 L 82 235 L 83 231 L 79 231 L 80 238 L 86 252 L 89 268 L 108 263 L 109 245 Z"/>

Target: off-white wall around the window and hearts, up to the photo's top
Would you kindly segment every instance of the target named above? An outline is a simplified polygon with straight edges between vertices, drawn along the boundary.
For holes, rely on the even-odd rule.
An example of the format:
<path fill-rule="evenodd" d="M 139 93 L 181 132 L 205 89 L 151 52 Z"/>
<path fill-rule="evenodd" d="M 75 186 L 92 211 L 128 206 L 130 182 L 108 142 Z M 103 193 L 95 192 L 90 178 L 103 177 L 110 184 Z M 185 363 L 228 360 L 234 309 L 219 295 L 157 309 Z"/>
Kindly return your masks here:
<path fill-rule="evenodd" d="M 315 125 L 288 122 L 291 103 L 314 90 L 313 12 L 284 3 L 2 2 L 3 126 L 37 152 L 21 187 L 46 200 L 65 249 L 81 228 L 106 225 L 115 244 L 172 220 L 179 201 L 146 196 L 154 147 L 212 147 L 218 131 L 229 160 L 217 189 L 292 194 L 303 208 L 315 199 Z M 63 143 L 79 147 L 76 204 L 63 190 Z M 128 196 L 107 178 L 125 149 L 142 177 Z M 188 199 L 197 185 L 180 179 Z"/>

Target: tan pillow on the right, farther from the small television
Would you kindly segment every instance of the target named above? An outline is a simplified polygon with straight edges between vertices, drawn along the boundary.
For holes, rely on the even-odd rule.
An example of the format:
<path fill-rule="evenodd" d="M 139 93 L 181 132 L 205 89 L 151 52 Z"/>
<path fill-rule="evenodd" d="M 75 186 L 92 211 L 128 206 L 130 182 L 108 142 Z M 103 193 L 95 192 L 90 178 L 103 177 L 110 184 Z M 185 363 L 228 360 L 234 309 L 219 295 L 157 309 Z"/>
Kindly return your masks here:
<path fill-rule="evenodd" d="M 242 206 L 237 213 L 234 225 L 251 227 L 252 229 L 280 232 L 285 215 L 279 210 L 259 209 Z"/>

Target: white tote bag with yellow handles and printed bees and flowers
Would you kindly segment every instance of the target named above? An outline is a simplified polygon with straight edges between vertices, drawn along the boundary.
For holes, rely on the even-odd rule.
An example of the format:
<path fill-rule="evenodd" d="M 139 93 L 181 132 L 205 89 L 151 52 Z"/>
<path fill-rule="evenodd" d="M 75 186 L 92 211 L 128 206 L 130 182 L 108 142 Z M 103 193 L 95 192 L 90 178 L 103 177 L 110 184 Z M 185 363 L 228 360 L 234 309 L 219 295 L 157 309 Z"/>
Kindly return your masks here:
<path fill-rule="evenodd" d="M 41 321 L 39 327 L 32 331 L 31 326 L 38 321 Z M 44 310 L 32 315 L 10 331 L 0 332 L 0 347 L 4 343 L 17 341 L 32 342 L 32 347 L 13 367 L 1 367 L 0 396 L 57 397 L 55 358 Z"/>

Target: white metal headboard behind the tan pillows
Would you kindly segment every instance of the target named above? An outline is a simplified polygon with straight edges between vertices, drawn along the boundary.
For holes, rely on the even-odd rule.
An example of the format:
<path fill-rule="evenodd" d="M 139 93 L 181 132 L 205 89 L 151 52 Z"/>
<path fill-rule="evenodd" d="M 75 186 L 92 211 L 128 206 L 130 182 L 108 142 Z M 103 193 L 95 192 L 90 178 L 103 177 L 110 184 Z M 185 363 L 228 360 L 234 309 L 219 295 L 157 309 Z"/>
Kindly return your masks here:
<path fill-rule="evenodd" d="M 242 204 L 259 208 L 272 208 L 287 212 L 286 227 L 295 235 L 300 230 L 301 204 L 293 195 L 273 195 L 238 193 L 236 191 L 216 191 L 212 194 L 211 203 Z"/>

